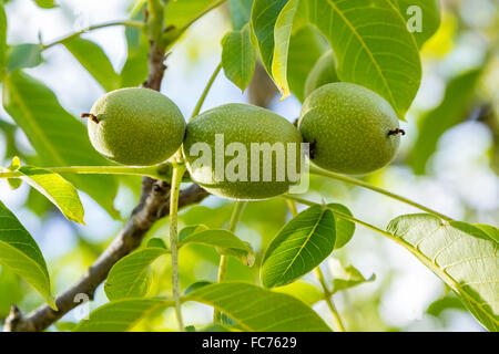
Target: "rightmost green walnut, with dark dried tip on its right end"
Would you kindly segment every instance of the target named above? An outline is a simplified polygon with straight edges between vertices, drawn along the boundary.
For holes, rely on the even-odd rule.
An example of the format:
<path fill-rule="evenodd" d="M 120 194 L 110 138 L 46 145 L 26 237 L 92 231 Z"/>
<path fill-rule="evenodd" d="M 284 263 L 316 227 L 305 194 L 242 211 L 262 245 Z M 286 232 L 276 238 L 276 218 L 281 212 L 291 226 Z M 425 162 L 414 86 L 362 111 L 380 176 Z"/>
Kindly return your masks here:
<path fill-rule="evenodd" d="M 310 160 L 327 170 L 365 175 L 394 158 L 400 143 L 398 118 L 377 93 L 332 83 L 305 101 L 298 128 L 310 144 Z"/>

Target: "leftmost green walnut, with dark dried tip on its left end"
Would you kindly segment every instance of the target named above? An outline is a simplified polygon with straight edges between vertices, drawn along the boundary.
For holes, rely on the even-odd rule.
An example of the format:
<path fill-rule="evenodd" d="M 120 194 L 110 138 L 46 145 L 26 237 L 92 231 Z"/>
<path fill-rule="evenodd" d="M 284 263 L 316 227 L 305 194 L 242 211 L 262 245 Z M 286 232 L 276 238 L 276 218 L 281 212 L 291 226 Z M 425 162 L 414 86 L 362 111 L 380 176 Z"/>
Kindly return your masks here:
<path fill-rule="evenodd" d="M 88 123 L 90 142 L 119 164 L 151 166 L 167 160 L 181 146 L 185 121 L 166 96 L 149 88 L 122 88 L 100 97 Z"/>

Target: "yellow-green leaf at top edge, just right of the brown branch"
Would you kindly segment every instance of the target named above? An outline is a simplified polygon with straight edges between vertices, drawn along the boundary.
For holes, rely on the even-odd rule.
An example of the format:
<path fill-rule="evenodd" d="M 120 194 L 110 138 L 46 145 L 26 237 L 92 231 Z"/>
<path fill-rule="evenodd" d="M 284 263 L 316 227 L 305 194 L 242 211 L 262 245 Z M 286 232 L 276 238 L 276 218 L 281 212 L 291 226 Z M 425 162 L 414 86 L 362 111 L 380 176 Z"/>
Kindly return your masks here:
<path fill-rule="evenodd" d="M 170 1 L 165 10 L 166 28 L 182 30 L 196 21 L 203 14 L 225 0 L 176 0 Z"/>

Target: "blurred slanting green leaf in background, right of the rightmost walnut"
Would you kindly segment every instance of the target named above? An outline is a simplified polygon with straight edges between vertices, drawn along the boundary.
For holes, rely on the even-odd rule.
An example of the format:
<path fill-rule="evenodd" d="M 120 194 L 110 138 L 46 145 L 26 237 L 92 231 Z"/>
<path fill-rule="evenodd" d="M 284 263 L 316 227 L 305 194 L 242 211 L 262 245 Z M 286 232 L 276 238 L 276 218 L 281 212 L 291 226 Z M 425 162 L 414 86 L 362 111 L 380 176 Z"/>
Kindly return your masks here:
<path fill-rule="evenodd" d="M 466 118 L 481 73 L 482 69 L 477 69 L 452 79 L 440 105 L 420 118 L 418 139 L 409 157 L 409 164 L 416 174 L 425 174 L 440 136 Z"/>

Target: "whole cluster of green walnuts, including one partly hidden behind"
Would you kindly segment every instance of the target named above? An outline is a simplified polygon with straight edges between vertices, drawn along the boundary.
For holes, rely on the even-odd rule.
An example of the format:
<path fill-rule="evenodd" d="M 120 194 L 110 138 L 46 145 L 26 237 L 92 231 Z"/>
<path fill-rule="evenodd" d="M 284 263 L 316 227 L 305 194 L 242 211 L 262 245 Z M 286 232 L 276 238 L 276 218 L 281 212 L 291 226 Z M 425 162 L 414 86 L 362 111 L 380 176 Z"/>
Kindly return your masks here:
<path fill-rule="evenodd" d="M 215 156 L 211 167 L 195 164 L 192 147 L 204 143 L 216 149 L 216 135 L 224 144 L 308 143 L 310 160 L 324 169 L 364 175 L 387 165 L 400 136 L 398 118 L 377 93 L 338 82 L 332 52 L 316 63 L 305 84 L 306 100 L 297 127 L 284 117 L 248 104 L 225 104 L 185 123 L 179 107 L 149 88 L 110 92 L 93 105 L 88 128 L 94 148 L 106 158 L 130 166 L 152 166 L 171 158 L 183 146 L 191 176 L 210 192 L 230 199 L 266 199 L 286 192 L 291 180 L 220 180 Z M 301 149 L 296 150 L 298 155 Z M 285 154 L 289 154 L 288 150 Z M 294 154 L 294 153 L 293 153 Z M 259 155 L 261 159 L 264 155 Z M 287 159 L 288 156 L 286 156 Z M 298 160 L 301 160 L 298 156 Z M 224 162 L 228 164 L 230 162 Z M 272 169 L 282 168 L 272 160 Z M 247 162 L 247 174 L 263 162 Z M 259 173 L 259 171 L 258 171 Z M 274 174 L 275 176 L 275 174 Z"/>

